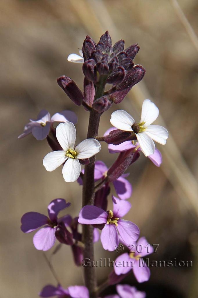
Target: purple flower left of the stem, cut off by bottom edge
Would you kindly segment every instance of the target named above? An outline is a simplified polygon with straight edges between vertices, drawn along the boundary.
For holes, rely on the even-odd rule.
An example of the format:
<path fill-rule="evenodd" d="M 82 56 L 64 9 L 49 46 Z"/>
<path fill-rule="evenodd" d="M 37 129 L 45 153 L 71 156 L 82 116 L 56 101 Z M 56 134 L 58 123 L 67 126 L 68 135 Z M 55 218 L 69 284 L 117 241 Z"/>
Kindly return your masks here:
<path fill-rule="evenodd" d="M 89 298 L 89 291 L 83 285 L 73 285 L 64 289 L 61 285 L 54 287 L 53 285 L 46 285 L 39 293 L 40 297 L 53 297 L 57 298 Z"/>

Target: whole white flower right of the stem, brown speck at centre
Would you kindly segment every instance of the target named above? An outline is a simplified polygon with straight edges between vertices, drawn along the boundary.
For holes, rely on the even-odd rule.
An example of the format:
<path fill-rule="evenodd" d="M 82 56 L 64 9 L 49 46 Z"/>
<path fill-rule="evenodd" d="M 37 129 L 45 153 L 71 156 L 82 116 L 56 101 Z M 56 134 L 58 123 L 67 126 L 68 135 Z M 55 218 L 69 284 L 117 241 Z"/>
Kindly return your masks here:
<path fill-rule="evenodd" d="M 123 110 L 115 111 L 111 114 L 110 122 L 113 126 L 123 131 L 133 131 L 136 134 L 140 148 L 145 156 L 153 154 L 155 142 L 166 144 L 168 131 L 160 125 L 150 125 L 157 119 L 159 110 L 149 99 L 142 104 L 142 115 L 139 123 Z"/>

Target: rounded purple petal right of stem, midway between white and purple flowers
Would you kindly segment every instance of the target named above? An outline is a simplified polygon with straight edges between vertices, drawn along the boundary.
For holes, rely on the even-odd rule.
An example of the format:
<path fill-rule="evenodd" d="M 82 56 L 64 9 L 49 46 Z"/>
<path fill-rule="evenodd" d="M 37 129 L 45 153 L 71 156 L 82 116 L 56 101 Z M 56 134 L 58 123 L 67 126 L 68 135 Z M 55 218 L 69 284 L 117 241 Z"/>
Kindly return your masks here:
<path fill-rule="evenodd" d="M 132 186 L 131 183 L 120 176 L 117 180 L 113 181 L 117 195 L 121 200 L 127 200 L 131 197 Z"/>

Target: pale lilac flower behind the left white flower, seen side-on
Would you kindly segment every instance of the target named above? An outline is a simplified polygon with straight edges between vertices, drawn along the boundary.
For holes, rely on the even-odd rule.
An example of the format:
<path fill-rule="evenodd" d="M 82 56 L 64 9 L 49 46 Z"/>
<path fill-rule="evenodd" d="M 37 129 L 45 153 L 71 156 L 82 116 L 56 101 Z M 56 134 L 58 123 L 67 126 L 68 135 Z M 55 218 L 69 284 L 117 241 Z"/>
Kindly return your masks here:
<path fill-rule="evenodd" d="M 30 119 L 30 122 L 25 125 L 23 134 L 18 136 L 18 139 L 32 133 L 38 141 L 41 141 L 49 134 L 50 127 L 53 122 L 70 121 L 76 124 L 77 119 L 76 114 L 72 111 L 65 110 L 50 117 L 50 113 L 48 111 L 41 110 L 36 120 Z"/>

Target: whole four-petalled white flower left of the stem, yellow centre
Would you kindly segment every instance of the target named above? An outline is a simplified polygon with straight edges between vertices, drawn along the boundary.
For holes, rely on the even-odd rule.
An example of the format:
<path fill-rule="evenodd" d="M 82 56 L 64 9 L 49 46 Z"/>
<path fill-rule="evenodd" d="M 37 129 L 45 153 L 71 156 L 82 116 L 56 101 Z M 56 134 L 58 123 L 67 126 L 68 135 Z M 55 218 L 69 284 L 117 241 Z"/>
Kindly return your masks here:
<path fill-rule="evenodd" d="M 43 159 L 43 165 L 51 172 L 65 162 L 62 168 L 63 178 L 66 182 L 76 181 L 81 172 L 78 159 L 89 158 L 98 153 L 100 143 L 95 139 L 86 139 L 74 149 L 76 128 L 71 122 L 60 123 L 56 127 L 56 138 L 63 150 L 48 153 Z"/>

